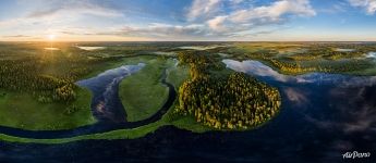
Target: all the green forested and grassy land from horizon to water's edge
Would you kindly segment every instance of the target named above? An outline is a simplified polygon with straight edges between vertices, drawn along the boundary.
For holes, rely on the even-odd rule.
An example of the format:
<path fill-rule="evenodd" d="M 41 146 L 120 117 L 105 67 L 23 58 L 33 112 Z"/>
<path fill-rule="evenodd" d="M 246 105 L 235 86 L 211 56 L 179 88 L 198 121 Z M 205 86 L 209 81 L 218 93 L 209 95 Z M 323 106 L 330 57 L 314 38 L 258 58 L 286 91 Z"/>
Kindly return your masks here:
<path fill-rule="evenodd" d="M 28 139 L 0 134 L 0 140 L 61 143 L 83 139 L 138 138 L 162 126 L 203 133 L 244 130 L 274 117 L 280 96 L 272 88 L 242 73 L 225 68 L 223 58 L 258 60 L 284 74 L 308 72 L 375 75 L 375 61 L 364 53 L 374 43 L 235 42 L 230 47 L 183 50 L 179 43 L 104 42 L 99 50 L 82 50 L 71 43 L 0 43 L 0 125 L 33 130 L 69 129 L 95 122 L 90 92 L 74 83 L 124 64 L 146 63 L 120 85 L 119 96 L 128 121 L 141 121 L 160 109 L 168 89 L 179 91 L 174 105 L 161 120 L 137 128 L 63 139 Z M 197 43 L 199 46 L 199 43 Z M 208 43 L 210 45 L 210 43 Z M 95 42 L 81 46 L 98 46 Z M 159 53 L 156 53 L 159 52 Z M 173 53 L 173 54 L 172 54 Z M 171 58 L 179 53 L 179 66 Z"/>

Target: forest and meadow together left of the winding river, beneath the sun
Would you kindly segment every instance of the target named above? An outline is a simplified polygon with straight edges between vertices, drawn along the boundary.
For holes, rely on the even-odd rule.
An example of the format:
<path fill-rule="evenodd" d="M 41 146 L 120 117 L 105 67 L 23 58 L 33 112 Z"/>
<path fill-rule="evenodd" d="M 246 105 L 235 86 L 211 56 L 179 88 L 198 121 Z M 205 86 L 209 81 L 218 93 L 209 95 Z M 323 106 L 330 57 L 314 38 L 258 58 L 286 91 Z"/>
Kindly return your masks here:
<path fill-rule="evenodd" d="M 74 83 L 104 71 L 117 58 L 96 57 L 65 43 L 56 45 L 56 51 L 37 42 L 0 46 L 0 125 L 54 130 L 95 122 L 90 92 Z"/>

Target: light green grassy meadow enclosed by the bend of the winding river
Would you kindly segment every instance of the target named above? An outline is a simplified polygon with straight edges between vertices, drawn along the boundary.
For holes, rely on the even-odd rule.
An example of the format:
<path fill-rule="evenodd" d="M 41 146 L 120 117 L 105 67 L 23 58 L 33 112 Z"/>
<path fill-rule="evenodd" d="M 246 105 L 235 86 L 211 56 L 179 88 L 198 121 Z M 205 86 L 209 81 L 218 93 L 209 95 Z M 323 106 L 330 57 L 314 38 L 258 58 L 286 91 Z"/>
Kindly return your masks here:
<path fill-rule="evenodd" d="M 119 96 L 129 122 L 142 121 L 155 114 L 168 98 L 168 87 L 160 83 L 168 66 L 160 58 L 141 58 L 146 63 L 136 74 L 125 77 L 120 84 Z M 133 59 L 135 60 L 135 59 Z"/>

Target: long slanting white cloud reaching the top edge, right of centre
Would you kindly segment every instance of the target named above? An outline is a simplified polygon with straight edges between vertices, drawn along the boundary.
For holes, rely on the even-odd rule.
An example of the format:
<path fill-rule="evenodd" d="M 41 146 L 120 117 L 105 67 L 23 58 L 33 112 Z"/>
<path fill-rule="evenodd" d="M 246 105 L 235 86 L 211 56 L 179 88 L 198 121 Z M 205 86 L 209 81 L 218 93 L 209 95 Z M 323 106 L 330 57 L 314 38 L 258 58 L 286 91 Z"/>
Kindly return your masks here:
<path fill-rule="evenodd" d="M 314 16 L 316 12 L 308 0 L 279 0 L 269 5 L 234 10 L 228 14 L 211 17 L 206 23 L 215 32 L 228 29 L 228 33 L 235 35 L 258 26 L 283 24 L 290 15 Z"/>

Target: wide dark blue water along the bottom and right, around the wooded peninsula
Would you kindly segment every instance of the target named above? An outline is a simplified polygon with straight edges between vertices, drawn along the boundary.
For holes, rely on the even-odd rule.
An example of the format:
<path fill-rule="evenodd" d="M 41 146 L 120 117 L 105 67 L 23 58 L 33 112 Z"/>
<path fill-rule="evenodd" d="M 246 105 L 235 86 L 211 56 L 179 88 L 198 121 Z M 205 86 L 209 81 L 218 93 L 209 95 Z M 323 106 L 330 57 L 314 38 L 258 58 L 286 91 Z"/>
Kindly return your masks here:
<path fill-rule="evenodd" d="M 250 161 L 343 162 L 345 152 L 376 154 L 376 77 L 282 75 L 257 61 L 223 60 L 229 68 L 277 87 L 280 113 L 248 131 L 193 134 L 167 126 L 138 139 L 63 145 L 0 142 L 0 160 L 36 162 Z M 352 160 L 348 160 L 352 161 Z"/>

